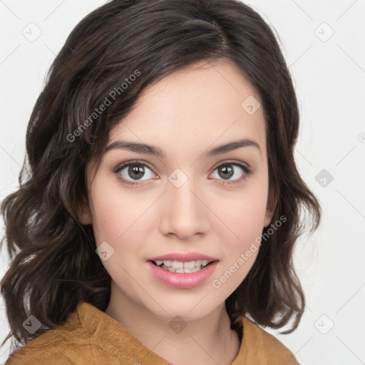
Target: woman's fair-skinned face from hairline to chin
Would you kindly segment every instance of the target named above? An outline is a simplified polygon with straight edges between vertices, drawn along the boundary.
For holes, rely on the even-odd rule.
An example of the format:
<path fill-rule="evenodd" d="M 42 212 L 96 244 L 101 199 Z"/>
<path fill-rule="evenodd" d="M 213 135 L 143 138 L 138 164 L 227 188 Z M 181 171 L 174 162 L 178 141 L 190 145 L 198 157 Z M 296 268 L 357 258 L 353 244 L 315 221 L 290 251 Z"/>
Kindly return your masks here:
<path fill-rule="evenodd" d="M 118 303 L 185 319 L 224 304 L 272 218 L 265 138 L 259 96 L 227 61 L 196 63 L 143 92 L 111 131 L 101 165 L 88 166 L 90 210 L 81 217 L 93 225 Z M 232 144 L 240 140 L 249 142 Z M 191 252 L 215 262 L 191 274 L 150 262 Z"/>

